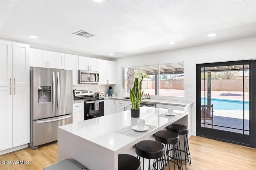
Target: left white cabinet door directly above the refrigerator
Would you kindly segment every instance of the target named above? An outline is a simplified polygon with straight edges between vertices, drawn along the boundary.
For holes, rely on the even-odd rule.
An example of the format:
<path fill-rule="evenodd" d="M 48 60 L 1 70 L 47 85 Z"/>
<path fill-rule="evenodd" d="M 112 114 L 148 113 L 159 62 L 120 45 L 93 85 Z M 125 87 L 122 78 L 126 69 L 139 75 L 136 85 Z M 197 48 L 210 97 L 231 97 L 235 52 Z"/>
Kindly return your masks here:
<path fill-rule="evenodd" d="M 31 67 L 48 67 L 47 51 L 30 48 L 30 66 Z"/>

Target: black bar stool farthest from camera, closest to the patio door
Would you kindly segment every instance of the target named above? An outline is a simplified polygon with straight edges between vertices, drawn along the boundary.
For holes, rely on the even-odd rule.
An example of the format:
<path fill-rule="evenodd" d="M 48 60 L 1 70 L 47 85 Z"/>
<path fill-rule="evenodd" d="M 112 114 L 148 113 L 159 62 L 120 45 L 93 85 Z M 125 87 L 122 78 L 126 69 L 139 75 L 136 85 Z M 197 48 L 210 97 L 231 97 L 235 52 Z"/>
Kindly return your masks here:
<path fill-rule="evenodd" d="M 184 137 L 184 150 L 179 149 L 181 152 L 184 152 L 185 158 L 181 160 L 185 161 L 185 166 L 187 169 L 187 160 L 188 163 L 191 164 L 191 159 L 190 159 L 190 152 L 189 152 L 189 147 L 188 147 L 188 127 L 184 125 L 179 125 L 179 124 L 172 124 L 167 126 L 168 131 L 172 131 L 175 133 L 178 133 L 179 135 L 183 135 Z M 180 145 L 180 142 L 179 142 Z"/>

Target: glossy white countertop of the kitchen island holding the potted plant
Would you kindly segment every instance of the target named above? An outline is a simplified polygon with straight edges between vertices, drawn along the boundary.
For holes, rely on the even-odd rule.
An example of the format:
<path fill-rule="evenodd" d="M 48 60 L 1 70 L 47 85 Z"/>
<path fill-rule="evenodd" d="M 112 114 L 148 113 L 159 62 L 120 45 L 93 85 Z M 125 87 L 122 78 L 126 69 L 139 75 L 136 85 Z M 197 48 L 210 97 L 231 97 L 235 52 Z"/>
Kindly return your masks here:
<path fill-rule="evenodd" d="M 188 115 L 188 112 L 174 110 L 174 112 L 182 114 L 177 114 L 175 117 L 170 116 L 169 118 L 157 116 L 165 113 L 166 111 L 167 109 L 140 107 L 140 119 L 145 119 L 146 125 L 156 126 L 156 129 L 150 131 L 146 135 L 153 135 L 159 129 L 162 129 L 163 127 L 166 127 L 178 119 Z M 118 152 L 119 149 L 135 145 L 139 140 L 141 140 L 114 132 L 124 127 L 137 124 L 137 119 L 139 118 L 131 117 L 130 110 L 127 110 L 60 126 L 58 128 L 68 131 L 69 133 L 100 145 L 106 149 Z"/>

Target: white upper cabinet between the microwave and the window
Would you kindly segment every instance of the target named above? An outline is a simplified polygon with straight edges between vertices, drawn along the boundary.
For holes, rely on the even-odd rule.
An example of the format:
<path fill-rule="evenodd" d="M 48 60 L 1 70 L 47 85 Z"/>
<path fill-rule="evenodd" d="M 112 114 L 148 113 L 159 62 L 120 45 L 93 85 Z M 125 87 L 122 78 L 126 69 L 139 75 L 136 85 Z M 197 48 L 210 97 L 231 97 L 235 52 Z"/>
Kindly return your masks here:
<path fill-rule="evenodd" d="M 116 62 L 99 59 L 99 84 L 116 84 Z"/>

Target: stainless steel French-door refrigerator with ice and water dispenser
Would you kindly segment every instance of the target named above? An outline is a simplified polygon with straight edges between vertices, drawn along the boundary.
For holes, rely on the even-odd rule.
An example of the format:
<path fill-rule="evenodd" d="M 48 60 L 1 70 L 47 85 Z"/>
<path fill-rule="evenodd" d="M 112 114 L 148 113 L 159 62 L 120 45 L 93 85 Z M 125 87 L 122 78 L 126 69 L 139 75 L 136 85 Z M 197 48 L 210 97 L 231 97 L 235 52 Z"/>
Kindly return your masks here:
<path fill-rule="evenodd" d="M 30 144 L 57 140 L 57 127 L 72 123 L 72 70 L 30 68 Z"/>

